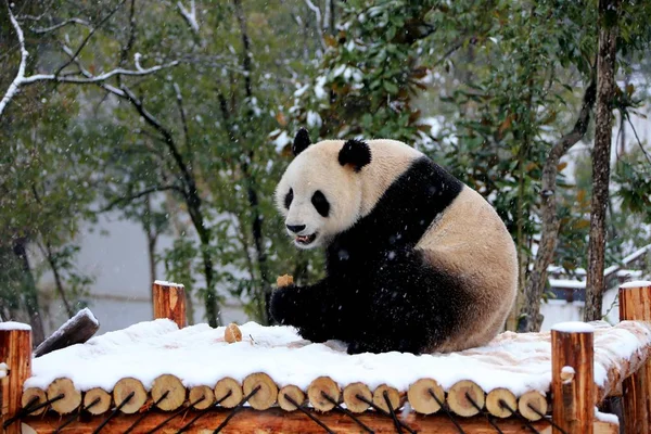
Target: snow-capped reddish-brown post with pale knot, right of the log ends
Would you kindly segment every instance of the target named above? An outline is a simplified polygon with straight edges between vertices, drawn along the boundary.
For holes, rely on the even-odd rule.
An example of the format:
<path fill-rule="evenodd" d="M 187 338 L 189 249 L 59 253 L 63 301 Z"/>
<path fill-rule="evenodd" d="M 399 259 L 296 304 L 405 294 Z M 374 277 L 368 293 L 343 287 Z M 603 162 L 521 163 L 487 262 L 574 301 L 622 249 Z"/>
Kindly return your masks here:
<path fill-rule="evenodd" d="M 592 434 L 595 421 L 593 328 L 562 322 L 551 330 L 552 414 L 566 434 Z M 562 432 L 556 426 L 554 434 Z"/>

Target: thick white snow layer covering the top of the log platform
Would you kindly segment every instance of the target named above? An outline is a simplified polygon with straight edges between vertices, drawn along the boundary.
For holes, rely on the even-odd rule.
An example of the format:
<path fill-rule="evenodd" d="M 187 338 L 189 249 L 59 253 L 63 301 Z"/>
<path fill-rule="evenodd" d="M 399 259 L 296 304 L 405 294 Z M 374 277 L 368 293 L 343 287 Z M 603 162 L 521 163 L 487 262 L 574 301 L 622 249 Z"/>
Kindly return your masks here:
<path fill-rule="evenodd" d="M 547 392 L 551 382 L 549 333 L 506 332 L 486 346 L 452 354 L 349 356 L 339 341 L 312 344 L 289 327 L 248 322 L 240 329 L 244 340 L 227 344 L 225 328 L 197 324 L 179 330 L 166 319 L 141 322 L 36 358 L 25 387 L 46 388 L 67 376 L 81 391 L 111 391 L 122 378 L 133 376 L 150 388 L 163 373 L 177 375 L 188 387 L 214 386 L 225 376 L 242 381 L 254 372 L 268 373 L 281 387 L 295 384 L 304 390 L 320 375 L 341 386 L 360 381 L 371 390 L 385 383 L 399 391 L 421 378 L 433 378 L 445 390 L 472 380 L 486 392 L 506 387 L 516 395 Z M 640 322 L 595 330 L 598 384 L 604 383 L 610 366 L 651 343 L 650 327 Z"/>

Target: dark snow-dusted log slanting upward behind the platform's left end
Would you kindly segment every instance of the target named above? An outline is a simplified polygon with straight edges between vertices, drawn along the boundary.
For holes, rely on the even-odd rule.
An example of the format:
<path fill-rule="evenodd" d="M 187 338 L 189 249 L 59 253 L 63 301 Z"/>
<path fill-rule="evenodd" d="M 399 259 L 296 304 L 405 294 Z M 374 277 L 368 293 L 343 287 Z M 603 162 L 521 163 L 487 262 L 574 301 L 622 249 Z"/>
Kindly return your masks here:
<path fill-rule="evenodd" d="M 34 357 L 40 357 L 56 349 L 75 344 L 82 344 L 100 330 L 100 323 L 88 307 L 79 310 L 68 319 L 50 337 L 44 340 L 35 350 Z"/>

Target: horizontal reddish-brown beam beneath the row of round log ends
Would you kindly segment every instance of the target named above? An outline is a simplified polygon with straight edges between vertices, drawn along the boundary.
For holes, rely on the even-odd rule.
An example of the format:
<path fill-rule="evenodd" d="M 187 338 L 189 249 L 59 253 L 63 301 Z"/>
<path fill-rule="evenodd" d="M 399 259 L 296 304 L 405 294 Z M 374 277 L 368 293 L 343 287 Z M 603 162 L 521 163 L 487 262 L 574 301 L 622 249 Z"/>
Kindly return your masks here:
<path fill-rule="evenodd" d="M 314 411 L 308 409 L 307 411 Z M 212 433 L 216 426 L 219 426 L 224 420 L 229 417 L 231 410 L 215 409 L 207 413 L 200 413 L 195 410 L 188 410 L 182 418 L 174 418 L 165 424 L 165 433 L 176 433 L 178 430 L 192 420 L 195 416 L 202 414 L 193 424 L 193 433 Z M 348 416 L 341 411 L 330 411 L 328 413 L 314 412 L 326 425 L 333 429 L 337 434 L 359 434 L 362 432 L 360 426 Z M 124 433 L 133 422 L 141 418 L 141 414 L 122 414 L 112 419 L 102 433 Z M 138 423 L 138 433 L 146 433 L 169 418 L 166 412 L 150 412 Z M 396 433 L 394 421 L 391 418 L 378 414 L 374 411 L 367 411 L 358 414 L 357 418 L 375 433 Z M 75 434 L 92 434 L 92 432 L 106 419 L 105 416 L 89 418 L 88 420 L 75 421 L 71 423 L 65 432 Z M 412 430 L 423 434 L 459 434 L 459 430 L 445 414 L 421 416 L 409 413 L 400 417 L 400 420 L 408 424 Z M 46 414 L 44 417 L 34 417 L 25 421 L 31 429 L 38 433 L 51 433 L 61 424 L 61 418 L 56 414 Z M 496 433 L 486 422 L 484 416 L 476 416 L 463 419 L 461 422 L 465 433 L 471 434 L 494 434 Z M 548 434 L 549 422 L 531 422 L 533 429 L 539 433 Z M 498 426 L 503 434 L 531 434 L 533 431 L 526 427 L 518 418 L 500 420 Z M 406 432 L 406 430 L 403 430 Z M 266 411 L 257 411 L 251 408 L 244 408 L 239 411 L 228 423 L 229 434 L 244 433 L 301 433 L 301 434 L 323 434 L 323 429 L 309 420 L 299 411 L 286 412 L 280 408 L 271 408 Z M 595 433 L 616 434 L 617 425 L 596 422 Z M 571 433 L 567 433 L 571 434 Z"/>

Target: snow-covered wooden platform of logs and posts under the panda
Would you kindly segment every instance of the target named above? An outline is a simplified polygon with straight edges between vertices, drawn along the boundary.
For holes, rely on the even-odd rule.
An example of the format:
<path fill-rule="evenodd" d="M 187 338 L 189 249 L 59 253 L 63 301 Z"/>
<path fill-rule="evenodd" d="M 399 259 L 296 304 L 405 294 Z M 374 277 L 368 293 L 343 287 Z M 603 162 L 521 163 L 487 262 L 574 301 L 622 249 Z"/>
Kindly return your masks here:
<path fill-rule="evenodd" d="M 551 432 L 554 424 L 563 430 L 558 433 L 615 433 L 617 418 L 596 406 L 624 394 L 635 426 L 651 423 L 644 411 L 651 282 L 621 290 L 621 317 L 633 320 L 506 332 L 480 348 L 420 356 L 350 356 L 341 342 L 315 344 L 292 328 L 254 322 L 240 326 L 242 340 L 229 343 L 226 328 L 182 327 L 181 293 L 169 288 L 174 301 L 164 302 L 169 307 L 158 316 L 171 319 L 35 358 L 20 383 L 26 409 L 14 416 L 39 433 L 63 424 L 78 433 L 214 432 L 226 425 L 235 433 L 520 433 Z M 0 349 L 0 356 L 10 353 Z M 11 414 L 3 411 L 4 420 Z"/>

